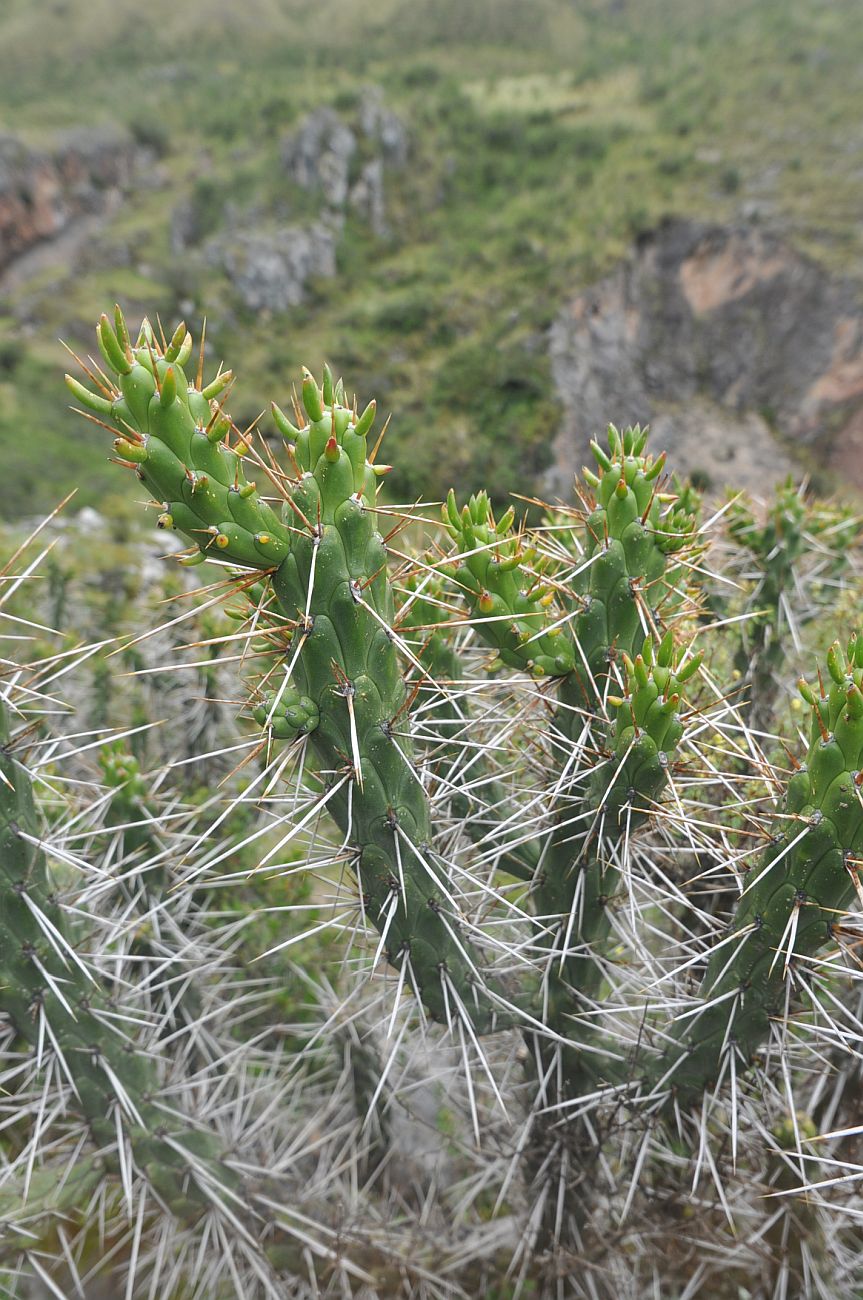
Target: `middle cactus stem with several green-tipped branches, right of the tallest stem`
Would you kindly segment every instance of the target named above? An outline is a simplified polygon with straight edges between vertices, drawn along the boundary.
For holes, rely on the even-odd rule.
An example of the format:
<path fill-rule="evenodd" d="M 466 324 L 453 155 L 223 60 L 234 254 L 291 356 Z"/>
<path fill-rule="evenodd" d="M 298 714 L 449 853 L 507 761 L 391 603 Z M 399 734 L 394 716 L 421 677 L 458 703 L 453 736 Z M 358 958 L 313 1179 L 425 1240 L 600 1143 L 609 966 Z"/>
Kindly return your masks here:
<path fill-rule="evenodd" d="M 619 875 L 603 866 L 610 855 L 600 842 L 623 842 L 662 792 L 681 734 L 678 688 L 698 666 L 690 659 L 676 677 L 671 637 L 662 638 L 665 624 L 693 607 L 686 566 L 698 546 L 689 511 L 659 491 L 664 456 L 646 455 L 646 429 L 611 426 L 608 452 L 593 443 L 597 473 L 585 477 L 595 498 L 586 517 L 559 512 L 547 525 L 554 549 L 547 543 L 541 554 L 512 534 L 511 511 L 495 523 L 483 495 L 461 512 L 451 495 L 443 515 L 459 547 L 444 572 L 464 594 L 477 634 L 502 664 L 551 679 L 561 772 L 578 754 L 597 759 L 587 783 L 578 764 L 564 783 L 535 857 L 534 910 L 560 954 L 547 968 L 547 1023 L 564 1036 L 573 1032 L 578 994 L 590 1000 L 602 983 L 593 958 L 610 932 Z M 662 640 L 655 664 L 650 650 L 639 656 L 646 634 Z M 615 707 L 610 698 L 624 685 L 619 663 L 629 666 L 632 698 Z M 581 1082 L 574 1067 L 564 1080 L 567 1088 Z"/>

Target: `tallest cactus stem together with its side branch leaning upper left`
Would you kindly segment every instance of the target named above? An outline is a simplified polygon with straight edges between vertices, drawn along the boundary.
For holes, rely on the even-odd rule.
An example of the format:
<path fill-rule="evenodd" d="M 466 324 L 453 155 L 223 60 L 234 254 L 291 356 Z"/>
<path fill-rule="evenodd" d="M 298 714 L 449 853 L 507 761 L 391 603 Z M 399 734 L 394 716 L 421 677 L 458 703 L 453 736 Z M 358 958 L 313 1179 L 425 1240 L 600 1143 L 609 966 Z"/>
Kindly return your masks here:
<path fill-rule="evenodd" d="M 290 686 L 298 694 L 287 707 L 315 722 L 309 748 L 325 774 L 326 806 L 352 846 L 382 950 L 393 965 L 408 963 L 433 1017 L 467 1017 L 477 1031 L 504 1023 L 461 932 L 447 868 L 430 849 L 428 797 L 400 723 L 407 696 L 367 450 L 374 404 L 357 415 L 329 370 L 322 389 L 305 370 L 296 424 L 274 407 L 295 471 L 279 478 L 279 519 L 243 476 L 246 445 L 229 445 L 233 425 L 214 402 L 224 378 L 188 385 L 179 360 L 168 360 L 170 347 L 160 350 L 147 329 L 138 347 L 123 347 L 123 333 L 101 318 L 100 346 L 117 377 L 120 456 L 164 502 L 162 526 L 179 529 L 203 554 L 268 571 L 294 630 L 283 666 L 269 676 L 266 718 L 291 729 L 282 710 Z"/>

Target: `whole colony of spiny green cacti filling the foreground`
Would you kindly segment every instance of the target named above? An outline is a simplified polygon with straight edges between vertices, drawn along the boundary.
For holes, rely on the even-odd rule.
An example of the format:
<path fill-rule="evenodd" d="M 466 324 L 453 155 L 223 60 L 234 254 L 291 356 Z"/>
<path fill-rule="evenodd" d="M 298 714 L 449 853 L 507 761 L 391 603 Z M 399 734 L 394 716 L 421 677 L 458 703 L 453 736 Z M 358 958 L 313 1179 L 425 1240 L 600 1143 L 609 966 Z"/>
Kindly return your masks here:
<path fill-rule="evenodd" d="M 832 584 L 851 589 L 851 515 L 790 488 L 760 530 L 720 510 L 741 610 L 645 429 L 593 445 L 577 508 L 450 494 L 435 526 L 387 500 L 374 403 L 328 369 L 290 417 L 273 406 L 273 455 L 185 326 L 133 338 L 117 311 L 97 342 L 69 386 L 181 563 L 212 566 L 227 632 L 204 640 L 233 647 L 252 742 L 231 806 L 261 820 L 224 844 L 225 812 L 165 820 L 105 750 L 95 875 L 64 892 L 30 732 L 4 722 L 9 1277 L 86 1294 L 101 1268 L 130 1297 L 853 1294 L 863 637 L 801 681 L 802 748 L 767 728 L 799 649 L 776 633 L 799 538 L 821 547 L 820 628 Z M 287 928 L 255 980 L 230 889 L 303 872 L 294 915 L 264 905 Z M 317 1010 L 286 1053 L 268 961 L 325 924 L 350 962 L 291 967 Z M 417 1160 L 435 1108 L 448 1138 Z M 87 1199 L 113 1225 L 101 1265 Z"/>

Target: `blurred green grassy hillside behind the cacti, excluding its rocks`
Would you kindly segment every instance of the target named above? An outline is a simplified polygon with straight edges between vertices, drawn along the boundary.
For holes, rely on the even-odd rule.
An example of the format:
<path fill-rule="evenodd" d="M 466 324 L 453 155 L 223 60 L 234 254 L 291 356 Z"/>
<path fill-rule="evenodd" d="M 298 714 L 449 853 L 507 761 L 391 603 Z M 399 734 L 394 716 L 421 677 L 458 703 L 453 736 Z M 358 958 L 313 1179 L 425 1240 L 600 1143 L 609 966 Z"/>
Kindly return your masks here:
<path fill-rule="evenodd" d="M 326 356 L 394 410 L 398 495 L 529 486 L 556 421 L 545 330 L 659 216 L 754 216 L 855 272 L 858 17 L 857 0 L 6 3 L 5 129 L 42 147 L 116 122 L 157 159 L 95 247 L 74 265 L 58 248 L 0 300 L 0 511 L 122 490 L 107 434 L 66 411 L 56 343 L 88 348 L 114 299 L 165 324 L 208 315 L 213 361 L 240 376 L 237 417 Z M 411 138 L 387 237 L 348 217 L 338 277 L 278 316 L 172 252 L 181 202 L 211 234 L 229 213 L 264 229 L 308 216 L 283 136 L 317 105 L 356 112 L 369 83 Z"/>

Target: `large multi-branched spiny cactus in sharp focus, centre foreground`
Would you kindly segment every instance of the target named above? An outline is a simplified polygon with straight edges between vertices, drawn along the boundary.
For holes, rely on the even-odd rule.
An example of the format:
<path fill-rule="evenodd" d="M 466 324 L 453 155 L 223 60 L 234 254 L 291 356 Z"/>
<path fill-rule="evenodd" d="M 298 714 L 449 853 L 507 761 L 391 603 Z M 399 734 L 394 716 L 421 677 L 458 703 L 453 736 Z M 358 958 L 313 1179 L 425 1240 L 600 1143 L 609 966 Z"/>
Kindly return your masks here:
<path fill-rule="evenodd" d="M 357 1028 L 352 988 L 320 1031 L 342 1044 L 337 1091 L 352 1095 L 348 1109 L 360 1098 L 364 1114 L 386 1114 L 374 1141 L 354 1130 L 346 1139 L 377 1210 L 393 1206 L 377 1165 L 398 1164 L 396 1075 L 411 1075 L 403 1053 L 425 1013 L 451 1043 L 438 1048 L 432 1036 L 415 1060 L 454 1053 L 463 1065 L 461 1156 L 489 1134 L 507 1150 L 506 1171 L 490 1161 L 468 1164 L 465 1175 L 468 1186 L 495 1188 L 493 1213 L 512 1199 L 521 1214 L 507 1265 L 498 1268 L 491 1248 L 483 1256 L 498 1280 L 521 1287 L 533 1268 L 539 1286 L 552 1287 L 572 1274 L 573 1251 L 600 1253 L 606 1191 L 591 1195 L 594 1175 L 611 1184 L 619 1225 L 636 1214 L 650 1223 L 663 1180 L 693 1158 L 693 1141 L 694 1184 L 710 1165 L 728 1218 L 729 1183 L 755 1219 L 759 1179 L 793 1197 L 789 1167 L 803 1167 L 810 1119 L 793 1122 L 792 1150 L 779 1118 L 792 1084 L 784 1093 L 776 1079 L 794 1076 L 806 1093 L 820 1058 L 806 1057 L 805 1034 L 779 1043 L 779 1071 L 762 1049 L 772 1019 L 803 1008 L 794 1023 L 806 1026 L 811 1008 L 816 1023 L 819 980 L 840 988 L 823 954 L 846 940 L 855 897 L 859 642 L 847 655 L 831 650 L 828 688 L 802 688 L 812 734 L 805 764 L 786 779 L 766 767 L 715 679 L 721 650 L 711 662 L 716 638 L 694 581 L 706 545 L 699 502 L 691 488 L 668 489 L 646 430 L 610 429 L 608 450 L 594 445 L 582 508 L 556 508 L 538 525 L 516 523 L 512 508 L 495 519 L 482 493 L 461 510 L 450 495 L 452 552 L 435 538 L 391 576 L 376 519 L 396 511 L 378 494 L 382 474 L 368 451 L 373 404 L 359 415 L 329 370 L 320 385 L 304 372 L 292 419 L 273 408 L 287 445 L 279 465 L 233 426 L 230 372 L 205 385 L 199 368 L 187 382 L 185 328 L 157 341 L 144 324 L 133 343 L 118 313 L 114 325 L 101 318 L 99 343 L 109 376 L 91 373 L 97 391 L 71 381 L 73 391 L 113 426 L 118 459 L 153 493 L 160 526 L 190 543 L 185 560 L 227 569 L 231 640 L 247 646 L 243 690 L 263 733 L 253 784 L 279 845 L 317 844 L 321 814 L 334 826 L 322 857 L 273 863 L 270 850 L 259 867 L 331 875 L 348 866 L 360 919 L 378 932 L 373 965 L 385 956 L 394 971 L 368 992 L 378 1017 L 368 1030 Z M 252 477 L 272 484 L 272 500 Z M 741 517 L 733 512 L 730 525 L 738 542 Z M 798 524 L 808 526 L 803 515 Z M 768 541 L 758 541 L 759 554 Z M 777 666 L 771 659 L 771 673 Z M 762 764 L 755 772 L 747 754 Z M 279 784 L 287 774 L 290 793 Z M 763 805 L 777 794 L 782 811 L 771 811 L 769 844 L 750 866 Z M 729 848 L 736 835 L 742 852 Z M 733 915 L 721 888 L 701 906 L 703 876 L 740 880 Z M 339 923 L 350 928 L 354 915 L 351 905 Z M 411 991 L 415 1013 L 403 997 Z M 504 1092 L 507 1105 L 515 1096 L 524 1106 L 521 1130 L 506 1141 L 499 1114 L 491 1119 Z M 741 1117 L 755 1115 L 759 1101 L 764 1119 L 751 1131 L 760 1145 L 751 1141 L 743 1157 Z M 818 1088 L 811 1101 L 807 1117 Z M 788 1243 L 794 1223 L 810 1222 L 798 1210 L 779 1235 L 768 1225 L 746 1240 L 746 1261 L 760 1242 L 784 1252 L 776 1286 L 810 1284 L 811 1252 L 794 1254 Z M 838 1232 L 820 1209 L 811 1222 L 827 1260 Z M 624 1294 L 619 1279 L 637 1275 L 626 1261 L 638 1231 L 610 1265 L 611 1291 Z M 694 1296 L 702 1275 L 706 1288 L 720 1284 L 719 1262 L 697 1260 L 694 1232 L 680 1234 L 690 1271 L 669 1294 Z M 738 1280 L 736 1269 L 729 1286 Z M 604 1295 L 603 1284 L 573 1282 L 572 1294 Z M 639 1294 L 633 1287 L 628 1294 Z M 541 1291 L 558 1292 L 567 1288 Z"/>

